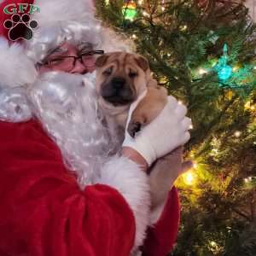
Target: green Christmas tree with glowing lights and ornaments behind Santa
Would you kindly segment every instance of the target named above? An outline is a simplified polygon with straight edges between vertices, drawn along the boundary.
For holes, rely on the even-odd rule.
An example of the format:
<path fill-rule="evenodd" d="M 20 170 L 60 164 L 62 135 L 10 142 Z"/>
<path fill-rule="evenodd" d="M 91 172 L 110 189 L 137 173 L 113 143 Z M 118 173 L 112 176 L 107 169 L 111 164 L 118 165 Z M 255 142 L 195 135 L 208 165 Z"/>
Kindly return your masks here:
<path fill-rule="evenodd" d="M 97 1 L 189 109 L 172 255 L 256 255 L 256 26 L 241 0 Z M 192 127 L 191 127 L 192 128 Z"/>

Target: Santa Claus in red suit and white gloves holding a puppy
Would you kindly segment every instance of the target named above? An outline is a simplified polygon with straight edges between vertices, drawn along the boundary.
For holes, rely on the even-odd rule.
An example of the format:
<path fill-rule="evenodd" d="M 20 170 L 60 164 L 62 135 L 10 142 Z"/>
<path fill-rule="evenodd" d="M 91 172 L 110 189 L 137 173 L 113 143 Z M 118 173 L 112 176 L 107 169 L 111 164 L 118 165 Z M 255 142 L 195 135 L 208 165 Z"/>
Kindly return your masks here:
<path fill-rule="evenodd" d="M 102 27 L 89 0 L 6 0 L 0 12 L 0 254 L 169 253 L 179 222 L 172 184 L 189 166 L 170 152 L 189 140 L 186 108 L 169 97 L 111 156 L 94 63 L 131 44 Z M 166 154 L 171 191 L 151 209 L 147 169 Z"/>

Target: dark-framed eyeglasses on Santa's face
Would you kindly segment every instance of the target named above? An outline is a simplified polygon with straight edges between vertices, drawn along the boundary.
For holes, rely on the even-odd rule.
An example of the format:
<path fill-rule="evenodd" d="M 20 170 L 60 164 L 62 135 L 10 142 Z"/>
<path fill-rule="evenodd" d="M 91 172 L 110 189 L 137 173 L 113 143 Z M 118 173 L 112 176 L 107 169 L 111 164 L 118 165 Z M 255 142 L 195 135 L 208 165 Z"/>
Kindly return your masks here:
<path fill-rule="evenodd" d="M 75 67 L 76 62 L 79 60 L 84 67 L 95 67 L 94 55 L 103 55 L 104 50 L 90 50 L 80 54 L 79 56 L 60 56 L 51 60 L 46 60 L 38 63 L 39 67 L 49 67 L 52 69 L 60 69 L 64 72 L 70 72 Z"/>

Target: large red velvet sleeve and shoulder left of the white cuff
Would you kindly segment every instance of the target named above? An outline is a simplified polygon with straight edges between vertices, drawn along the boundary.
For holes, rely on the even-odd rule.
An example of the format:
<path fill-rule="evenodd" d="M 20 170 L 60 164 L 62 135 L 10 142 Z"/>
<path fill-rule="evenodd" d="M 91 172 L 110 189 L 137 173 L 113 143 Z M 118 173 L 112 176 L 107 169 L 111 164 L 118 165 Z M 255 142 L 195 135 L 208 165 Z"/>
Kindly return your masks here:
<path fill-rule="evenodd" d="M 36 121 L 0 122 L 0 255 L 129 255 L 135 221 L 107 185 L 79 189 Z"/>

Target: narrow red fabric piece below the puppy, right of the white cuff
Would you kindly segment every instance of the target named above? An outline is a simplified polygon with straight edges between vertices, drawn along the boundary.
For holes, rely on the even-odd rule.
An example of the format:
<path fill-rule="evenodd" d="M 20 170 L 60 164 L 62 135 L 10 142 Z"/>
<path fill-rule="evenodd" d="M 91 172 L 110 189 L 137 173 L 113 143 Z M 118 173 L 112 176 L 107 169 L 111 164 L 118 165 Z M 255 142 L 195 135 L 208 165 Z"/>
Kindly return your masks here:
<path fill-rule="evenodd" d="M 173 187 L 160 219 L 154 228 L 148 229 L 148 236 L 143 246 L 143 256 L 166 256 L 170 253 L 177 239 L 179 220 L 179 199 L 177 189 Z"/>

